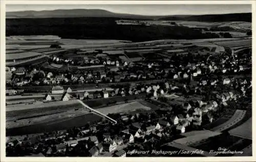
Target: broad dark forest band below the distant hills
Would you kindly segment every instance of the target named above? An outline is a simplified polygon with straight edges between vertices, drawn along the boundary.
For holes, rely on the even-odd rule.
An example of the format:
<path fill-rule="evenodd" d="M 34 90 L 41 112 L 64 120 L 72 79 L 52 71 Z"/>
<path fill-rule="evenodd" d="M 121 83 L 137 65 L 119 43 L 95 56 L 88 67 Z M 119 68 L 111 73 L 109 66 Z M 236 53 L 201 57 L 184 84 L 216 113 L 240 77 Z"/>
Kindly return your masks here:
<path fill-rule="evenodd" d="M 57 35 L 66 39 L 116 39 L 134 42 L 159 39 L 219 38 L 186 26 L 118 25 L 118 18 L 19 18 L 6 19 L 6 36 Z"/>

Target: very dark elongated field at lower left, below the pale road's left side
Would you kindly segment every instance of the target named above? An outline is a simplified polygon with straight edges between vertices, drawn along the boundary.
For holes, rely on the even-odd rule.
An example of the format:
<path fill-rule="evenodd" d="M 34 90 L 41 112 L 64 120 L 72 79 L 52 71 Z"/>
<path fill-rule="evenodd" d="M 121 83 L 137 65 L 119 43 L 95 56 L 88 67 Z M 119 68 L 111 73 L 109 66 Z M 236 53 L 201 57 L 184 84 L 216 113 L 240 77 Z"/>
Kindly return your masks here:
<path fill-rule="evenodd" d="M 95 114 L 85 114 L 77 117 L 69 117 L 66 119 L 55 120 L 46 123 L 40 123 L 30 126 L 10 128 L 6 130 L 6 136 L 19 136 L 23 134 L 51 132 L 56 130 L 70 129 L 74 126 L 84 126 L 87 122 L 96 122 L 101 117 Z"/>

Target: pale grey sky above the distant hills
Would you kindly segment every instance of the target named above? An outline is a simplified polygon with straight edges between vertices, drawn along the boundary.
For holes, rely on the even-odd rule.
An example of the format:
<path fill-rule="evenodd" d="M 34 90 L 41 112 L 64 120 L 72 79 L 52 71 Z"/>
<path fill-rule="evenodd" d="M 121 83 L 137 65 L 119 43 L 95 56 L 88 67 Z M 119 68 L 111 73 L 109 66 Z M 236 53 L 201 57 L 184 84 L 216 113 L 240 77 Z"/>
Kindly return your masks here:
<path fill-rule="evenodd" d="M 138 15 L 200 15 L 251 12 L 251 5 L 6 5 L 6 12 L 12 11 L 42 11 L 56 9 L 103 9 L 115 13 Z"/>

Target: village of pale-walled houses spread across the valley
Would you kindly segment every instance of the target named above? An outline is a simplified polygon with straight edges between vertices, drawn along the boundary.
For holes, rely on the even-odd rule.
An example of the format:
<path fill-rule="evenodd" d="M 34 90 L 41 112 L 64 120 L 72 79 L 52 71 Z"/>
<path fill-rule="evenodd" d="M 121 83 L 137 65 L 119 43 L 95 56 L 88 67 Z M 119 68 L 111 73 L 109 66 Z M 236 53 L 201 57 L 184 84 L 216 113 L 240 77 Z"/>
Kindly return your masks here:
<path fill-rule="evenodd" d="M 176 62 L 171 62 L 170 58 L 144 60 L 136 64 L 120 60 L 104 61 L 102 58 L 88 61 L 86 57 L 82 62 L 102 63 L 104 68 L 102 71 L 89 70 L 84 73 L 82 70 L 60 73 L 40 67 L 8 68 L 12 80 L 7 80 L 7 84 L 12 85 L 13 89 L 6 90 L 7 96 L 28 94 L 28 97 L 33 98 L 40 94 L 42 97 L 7 101 L 7 105 L 76 99 L 87 103 L 95 99 L 110 99 L 112 101 L 107 103 L 109 106 L 121 104 L 115 100 L 115 96 L 135 96 L 124 102 L 145 101 L 154 108 L 150 112 L 112 111 L 107 115 L 116 120 L 116 124 L 111 124 L 103 117 L 98 123 L 84 123 L 83 127 L 11 137 L 12 140 L 7 142 L 7 154 L 120 157 L 129 156 L 125 150 L 140 148 L 138 145 L 160 149 L 161 145 L 181 138 L 185 132 L 203 130 L 205 125 L 225 115 L 223 110 L 236 111 L 232 110 L 232 104 L 229 103 L 238 104 L 240 100 L 251 97 L 251 77 L 248 75 L 251 64 L 245 58 L 230 56 L 225 52 L 216 57 L 173 57 L 176 57 Z M 53 58 L 55 63 L 60 60 Z M 157 82 L 154 83 L 154 80 Z M 90 88 L 72 87 L 77 84 L 88 84 Z M 36 85 L 48 88 L 19 89 Z"/>

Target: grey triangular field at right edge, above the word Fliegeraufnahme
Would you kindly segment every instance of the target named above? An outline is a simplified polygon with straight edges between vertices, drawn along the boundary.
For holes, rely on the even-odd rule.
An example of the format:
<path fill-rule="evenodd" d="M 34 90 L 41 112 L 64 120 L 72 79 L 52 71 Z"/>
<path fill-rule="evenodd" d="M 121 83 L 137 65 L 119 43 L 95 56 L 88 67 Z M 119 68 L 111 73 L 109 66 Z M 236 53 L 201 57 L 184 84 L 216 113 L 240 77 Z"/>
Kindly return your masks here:
<path fill-rule="evenodd" d="M 238 136 L 252 140 L 252 120 L 248 119 L 242 125 L 228 131 L 233 136 Z"/>

